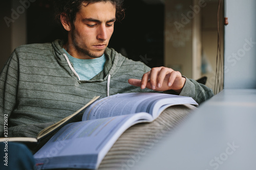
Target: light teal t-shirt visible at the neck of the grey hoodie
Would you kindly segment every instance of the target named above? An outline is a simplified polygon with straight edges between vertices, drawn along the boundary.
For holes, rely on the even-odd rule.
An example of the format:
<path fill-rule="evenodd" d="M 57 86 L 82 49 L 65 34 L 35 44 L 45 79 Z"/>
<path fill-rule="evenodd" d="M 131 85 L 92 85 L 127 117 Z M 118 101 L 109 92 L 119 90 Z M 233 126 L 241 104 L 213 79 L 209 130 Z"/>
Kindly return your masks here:
<path fill-rule="evenodd" d="M 77 72 L 80 80 L 91 80 L 104 69 L 106 62 L 105 55 L 94 59 L 78 59 L 72 57 L 64 48 L 69 60 L 73 63 L 73 67 Z"/>

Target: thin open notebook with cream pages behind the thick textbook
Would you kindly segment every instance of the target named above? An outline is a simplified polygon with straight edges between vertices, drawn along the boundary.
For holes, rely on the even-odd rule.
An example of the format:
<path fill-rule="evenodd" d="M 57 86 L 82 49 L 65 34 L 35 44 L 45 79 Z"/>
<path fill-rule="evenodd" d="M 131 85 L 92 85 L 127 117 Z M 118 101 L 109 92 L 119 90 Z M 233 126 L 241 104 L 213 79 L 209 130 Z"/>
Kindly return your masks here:
<path fill-rule="evenodd" d="M 58 130 L 60 127 L 62 127 L 63 125 L 67 124 L 71 119 L 73 119 L 75 116 L 77 116 L 80 113 L 83 113 L 84 110 L 91 105 L 93 102 L 95 102 L 97 99 L 99 99 L 100 96 L 95 96 L 89 103 L 87 103 L 86 105 L 84 105 L 82 108 L 80 108 L 79 110 L 77 110 L 75 113 L 61 119 L 59 122 L 41 130 L 36 138 L 33 137 L 7 137 L 7 138 L 0 138 L 0 142 L 2 141 L 17 141 L 17 142 L 39 142 L 40 139 L 46 137 L 47 135 L 53 133 L 54 131 Z"/>

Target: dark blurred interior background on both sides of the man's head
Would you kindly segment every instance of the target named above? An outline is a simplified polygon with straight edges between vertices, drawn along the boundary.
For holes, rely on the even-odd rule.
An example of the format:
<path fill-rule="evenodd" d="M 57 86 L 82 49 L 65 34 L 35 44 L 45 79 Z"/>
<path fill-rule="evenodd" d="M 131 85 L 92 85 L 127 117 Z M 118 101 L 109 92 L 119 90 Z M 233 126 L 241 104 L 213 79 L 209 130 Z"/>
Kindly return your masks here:
<path fill-rule="evenodd" d="M 214 89 L 217 50 L 223 56 L 218 7 L 218 0 L 126 0 L 109 47 L 150 67 L 167 66 L 195 80 L 206 76 Z M 19 45 L 62 38 L 48 0 L 3 1 L 0 12 L 1 68 Z"/>

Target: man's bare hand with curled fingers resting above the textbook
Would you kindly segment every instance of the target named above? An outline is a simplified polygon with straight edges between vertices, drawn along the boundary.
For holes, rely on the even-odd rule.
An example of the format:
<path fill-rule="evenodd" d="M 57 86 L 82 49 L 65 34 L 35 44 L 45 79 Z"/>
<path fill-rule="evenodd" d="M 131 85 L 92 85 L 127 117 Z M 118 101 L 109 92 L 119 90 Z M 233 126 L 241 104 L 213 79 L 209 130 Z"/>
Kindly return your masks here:
<path fill-rule="evenodd" d="M 174 71 L 167 67 L 154 67 L 146 72 L 141 80 L 129 79 L 128 82 L 141 89 L 149 88 L 156 91 L 175 90 L 180 93 L 186 79 L 181 76 L 179 71 Z"/>

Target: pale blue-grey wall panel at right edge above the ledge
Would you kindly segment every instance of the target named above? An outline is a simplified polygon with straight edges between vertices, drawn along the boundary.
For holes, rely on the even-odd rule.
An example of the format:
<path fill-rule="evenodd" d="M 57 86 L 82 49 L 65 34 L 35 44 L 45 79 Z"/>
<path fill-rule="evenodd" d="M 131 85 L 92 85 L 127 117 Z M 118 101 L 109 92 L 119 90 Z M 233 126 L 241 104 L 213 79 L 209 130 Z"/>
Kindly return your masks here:
<path fill-rule="evenodd" d="M 226 0 L 224 88 L 256 88 L 256 1 Z"/>

